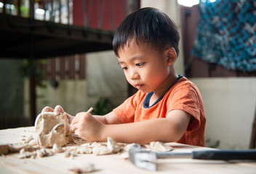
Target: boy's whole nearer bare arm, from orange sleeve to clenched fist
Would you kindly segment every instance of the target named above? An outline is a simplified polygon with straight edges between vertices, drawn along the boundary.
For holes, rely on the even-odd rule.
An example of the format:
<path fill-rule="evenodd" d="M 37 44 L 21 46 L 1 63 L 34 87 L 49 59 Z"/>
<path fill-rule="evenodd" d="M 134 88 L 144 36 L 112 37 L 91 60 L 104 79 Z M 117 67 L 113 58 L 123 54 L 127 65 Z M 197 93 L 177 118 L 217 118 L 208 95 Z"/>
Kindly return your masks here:
<path fill-rule="evenodd" d="M 87 141 L 107 141 L 110 136 L 122 143 L 148 144 L 151 141 L 178 141 L 185 133 L 191 116 L 182 110 L 173 110 L 167 118 L 137 123 L 104 125 L 95 117 L 81 112 L 71 124 L 71 130 Z"/>

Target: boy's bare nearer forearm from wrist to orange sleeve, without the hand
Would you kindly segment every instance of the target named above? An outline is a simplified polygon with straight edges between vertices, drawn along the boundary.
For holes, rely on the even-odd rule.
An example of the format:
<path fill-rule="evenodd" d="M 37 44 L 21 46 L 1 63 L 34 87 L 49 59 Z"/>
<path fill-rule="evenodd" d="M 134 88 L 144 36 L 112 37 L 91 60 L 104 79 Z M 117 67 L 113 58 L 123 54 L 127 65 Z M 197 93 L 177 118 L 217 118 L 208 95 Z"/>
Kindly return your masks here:
<path fill-rule="evenodd" d="M 137 123 L 108 125 L 103 129 L 103 139 L 110 136 L 123 143 L 148 144 L 151 141 L 178 141 L 185 133 L 191 116 L 182 110 L 173 110 L 166 118 Z"/>

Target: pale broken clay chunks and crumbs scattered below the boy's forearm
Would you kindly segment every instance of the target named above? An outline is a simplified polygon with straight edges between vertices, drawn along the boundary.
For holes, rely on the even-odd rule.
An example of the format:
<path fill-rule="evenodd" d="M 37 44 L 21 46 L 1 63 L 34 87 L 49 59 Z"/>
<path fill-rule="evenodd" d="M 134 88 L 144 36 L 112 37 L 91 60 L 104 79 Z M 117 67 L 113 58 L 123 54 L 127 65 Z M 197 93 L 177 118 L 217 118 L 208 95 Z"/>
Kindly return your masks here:
<path fill-rule="evenodd" d="M 126 159 L 130 147 L 133 144 L 121 144 L 116 143 L 111 137 L 108 137 L 107 142 L 88 142 L 80 138 L 76 134 L 71 134 L 73 141 L 69 141 L 68 144 L 60 145 L 53 144 L 52 149 L 47 149 L 49 147 L 39 146 L 36 141 L 33 140 L 33 136 L 27 138 L 28 144 L 15 144 L 9 146 L 9 151 L 19 152 L 20 158 L 27 157 L 47 157 L 49 155 L 54 155 L 56 153 L 63 153 L 64 157 L 76 157 L 79 154 L 95 154 L 95 155 L 106 155 L 106 154 L 116 154 L 119 153 L 121 158 Z M 25 137 L 25 136 L 23 136 Z M 31 144 L 31 145 L 30 145 Z M 33 147 L 34 149 L 28 151 L 27 149 Z M 161 143 L 160 141 L 151 142 L 151 144 L 145 145 L 148 150 L 167 152 L 171 151 L 172 147 L 167 144 Z"/>

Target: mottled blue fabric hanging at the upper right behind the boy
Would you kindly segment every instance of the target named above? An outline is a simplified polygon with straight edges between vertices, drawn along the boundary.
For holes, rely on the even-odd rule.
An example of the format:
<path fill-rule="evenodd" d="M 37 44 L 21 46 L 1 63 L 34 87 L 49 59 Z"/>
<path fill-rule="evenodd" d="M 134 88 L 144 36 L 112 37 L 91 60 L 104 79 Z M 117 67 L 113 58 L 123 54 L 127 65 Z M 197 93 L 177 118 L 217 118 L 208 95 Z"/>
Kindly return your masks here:
<path fill-rule="evenodd" d="M 191 54 L 229 70 L 256 71 L 256 0 L 200 0 Z"/>

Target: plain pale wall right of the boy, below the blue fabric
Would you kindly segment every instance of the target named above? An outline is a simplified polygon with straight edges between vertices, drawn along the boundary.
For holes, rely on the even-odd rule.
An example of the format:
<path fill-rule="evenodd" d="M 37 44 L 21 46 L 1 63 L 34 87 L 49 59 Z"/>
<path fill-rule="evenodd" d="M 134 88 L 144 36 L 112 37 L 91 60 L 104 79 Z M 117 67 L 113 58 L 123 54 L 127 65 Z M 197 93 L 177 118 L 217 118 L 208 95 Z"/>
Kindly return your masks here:
<path fill-rule="evenodd" d="M 191 80 L 204 100 L 209 144 L 220 141 L 220 149 L 248 149 L 256 109 L 256 78 Z"/>

